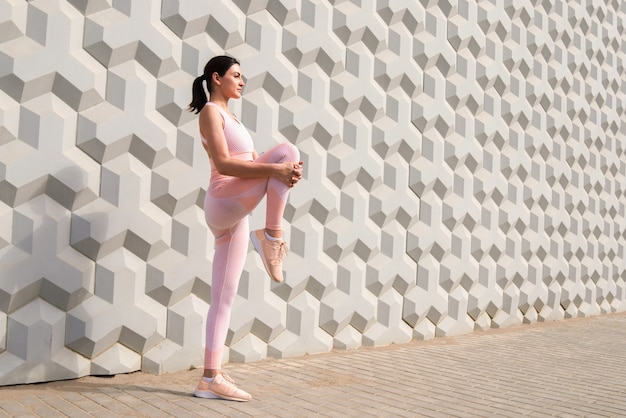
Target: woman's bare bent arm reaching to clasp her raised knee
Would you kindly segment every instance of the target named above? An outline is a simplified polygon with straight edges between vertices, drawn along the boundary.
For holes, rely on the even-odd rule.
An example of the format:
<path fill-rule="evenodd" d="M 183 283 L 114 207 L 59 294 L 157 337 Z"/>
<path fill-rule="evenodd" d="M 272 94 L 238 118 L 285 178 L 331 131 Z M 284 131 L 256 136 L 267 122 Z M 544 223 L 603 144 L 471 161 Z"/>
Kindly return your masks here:
<path fill-rule="evenodd" d="M 293 163 L 256 163 L 231 158 L 224 137 L 224 119 L 213 106 L 204 106 L 199 115 L 200 133 L 206 139 L 205 149 L 213 160 L 215 169 L 223 175 L 233 177 L 275 177 L 292 185 L 302 177 L 302 169 Z M 257 153 L 253 151 L 253 158 Z"/>

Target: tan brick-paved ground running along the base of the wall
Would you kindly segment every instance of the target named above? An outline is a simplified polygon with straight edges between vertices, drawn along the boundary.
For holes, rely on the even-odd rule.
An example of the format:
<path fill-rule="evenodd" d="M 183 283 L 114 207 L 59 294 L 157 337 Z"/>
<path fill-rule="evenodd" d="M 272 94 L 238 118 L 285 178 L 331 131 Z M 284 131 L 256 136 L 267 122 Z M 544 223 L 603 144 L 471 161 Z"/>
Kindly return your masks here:
<path fill-rule="evenodd" d="M 626 417 L 626 313 L 225 370 L 252 401 L 132 373 L 0 388 L 0 417 Z"/>

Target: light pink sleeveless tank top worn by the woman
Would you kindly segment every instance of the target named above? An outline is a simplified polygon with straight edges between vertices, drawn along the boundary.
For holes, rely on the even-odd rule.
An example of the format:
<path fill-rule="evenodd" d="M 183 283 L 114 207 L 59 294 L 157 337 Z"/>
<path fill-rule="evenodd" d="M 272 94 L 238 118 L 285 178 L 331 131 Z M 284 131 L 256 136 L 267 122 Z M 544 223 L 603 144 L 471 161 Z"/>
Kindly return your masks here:
<path fill-rule="evenodd" d="M 254 143 L 246 127 L 215 103 L 207 102 L 206 104 L 215 107 L 224 119 L 224 136 L 226 137 L 226 145 L 228 146 L 230 156 L 241 160 L 252 161 Z M 200 135 L 200 138 L 202 142 L 206 144 L 206 139 L 202 135 Z M 213 160 L 211 160 L 210 189 L 220 189 L 230 178 L 232 177 L 220 174 L 215 168 Z"/>

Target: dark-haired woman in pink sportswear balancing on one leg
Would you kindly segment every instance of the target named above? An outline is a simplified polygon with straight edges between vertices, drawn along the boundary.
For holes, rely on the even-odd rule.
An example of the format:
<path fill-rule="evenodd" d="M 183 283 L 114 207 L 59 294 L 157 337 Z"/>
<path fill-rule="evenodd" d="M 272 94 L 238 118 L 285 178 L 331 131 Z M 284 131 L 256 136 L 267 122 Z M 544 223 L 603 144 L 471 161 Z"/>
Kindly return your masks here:
<path fill-rule="evenodd" d="M 209 100 L 204 90 L 209 92 Z M 248 401 L 220 370 L 230 313 L 248 251 L 248 215 L 267 196 L 265 229 L 250 233 L 272 279 L 283 280 L 282 217 L 289 190 L 302 178 L 295 146 L 280 144 L 259 156 L 252 138 L 228 110 L 244 87 L 239 61 L 228 56 L 209 60 L 193 83 L 189 110 L 199 113 L 202 145 L 211 161 L 211 179 L 204 200 L 207 225 L 215 236 L 211 307 L 206 323 L 204 374 L 194 395 Z"/>

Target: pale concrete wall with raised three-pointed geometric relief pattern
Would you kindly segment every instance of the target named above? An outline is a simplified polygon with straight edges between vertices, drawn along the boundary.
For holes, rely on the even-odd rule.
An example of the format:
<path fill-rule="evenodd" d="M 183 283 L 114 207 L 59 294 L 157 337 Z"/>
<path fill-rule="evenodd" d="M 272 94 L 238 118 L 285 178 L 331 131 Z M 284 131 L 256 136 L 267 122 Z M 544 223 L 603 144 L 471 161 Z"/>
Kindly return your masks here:
<path fill-rule="evenodd" d="M 224 361 L 626 310 L 626 2 L 0 0 L 0 384 L 201 365 L 191 83 L 297 145 Z M 262 225 L 262 211 L 251 219 Z"/>

